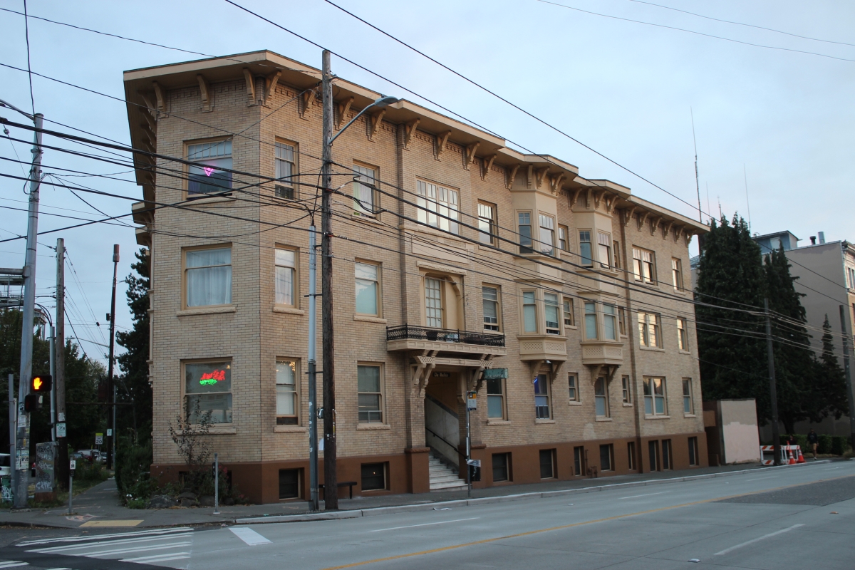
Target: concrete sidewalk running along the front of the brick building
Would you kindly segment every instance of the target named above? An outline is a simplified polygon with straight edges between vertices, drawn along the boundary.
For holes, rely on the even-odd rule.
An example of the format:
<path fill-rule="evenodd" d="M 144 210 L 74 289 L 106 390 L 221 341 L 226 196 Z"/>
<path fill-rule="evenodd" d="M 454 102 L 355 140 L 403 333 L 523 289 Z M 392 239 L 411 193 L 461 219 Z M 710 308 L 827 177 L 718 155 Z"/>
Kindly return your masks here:
<path fill-rule="evenodd" d="M 828 462 L 828 461 L 817 461 Z M 810 461 L 804 465 L 814 464 Z M 797 467 L 797 466 L 792 466 Z M 284 520 L 314 520 L 327 518 L 350 518 L 369 514 L 384 514 L 402 510 L 433 508 L 439 502 L 500 502 L 543 496 L 544 493 L 592 492 L 610 485 L 657 485 L 675 480 L 691 480 L 706 477 L 735 475 L 746 470 L 775 469 L 758 464 L 730 465 L 725 467 L 702 467 L 681 471 L 666 471 L 634 475 L 616 475 L 595 479 L 548 481 L 532 485 L 501 485 L 486 489 L 475 489 L 472 497 L 466 491 L 439 491 L 418 495 L 380 495 L 374 497 L 339 498 L 339 512 L 310 514 L 307 502 L 281 502 L 265 505 L 235 505 L 221 507 L 219 514 L 214 508 L 163 508 L 133 509 L 121 505 L 115 480 L 110 479 L 74 497 L 74 513 L 68 507 L 50 509 L 27 509 L 24 511 L 0 510 L 0 525 L 48 526 L 56 528 L 97 527 L 151 527 L 151 526 L 197 526 L 213 524 L 235 524 L 274 522 Z M 783 468 L 788 468 L 787 466 Z M 445 507 L 446 505 L 436 505 Z"/>

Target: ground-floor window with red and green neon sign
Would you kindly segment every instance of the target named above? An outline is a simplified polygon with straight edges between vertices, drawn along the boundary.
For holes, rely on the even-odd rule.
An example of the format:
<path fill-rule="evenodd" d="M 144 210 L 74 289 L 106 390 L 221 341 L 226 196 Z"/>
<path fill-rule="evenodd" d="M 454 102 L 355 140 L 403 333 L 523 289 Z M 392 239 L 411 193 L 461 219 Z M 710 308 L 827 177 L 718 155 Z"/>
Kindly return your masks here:
<path fill-rule="evenodd" d="M 184 365 L 187 420 L 198 424 L 207 415 L 212 424 L 232 423 L 232 365 L 228 361 Z"/>

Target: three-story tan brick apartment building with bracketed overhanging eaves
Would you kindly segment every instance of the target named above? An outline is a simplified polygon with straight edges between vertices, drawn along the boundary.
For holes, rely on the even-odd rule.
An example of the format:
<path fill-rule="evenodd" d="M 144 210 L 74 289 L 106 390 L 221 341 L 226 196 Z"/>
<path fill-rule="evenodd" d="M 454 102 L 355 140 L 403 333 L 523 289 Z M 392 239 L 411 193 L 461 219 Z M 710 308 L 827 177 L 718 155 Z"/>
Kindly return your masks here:
<path fill-rule="evenodd" d="M 308 496 L 319 79 L 269 51 L 125 73 L 134 148 L 194 162 L 135 157 L 153 473 L 181 470 L 168 426 L 198 403 L 242 491 Z M 337 128 L 379 97 L 333 91 Z M 365 183 L 333 198 L 339 480 L 355 494 L 428 491 L 432 450 L 461 461 L 467 390 L 475 486 L 705 465 L 683 287 L 705 226 L 408 101 L 358 120 L 333 160 L 337 185 Z"/>

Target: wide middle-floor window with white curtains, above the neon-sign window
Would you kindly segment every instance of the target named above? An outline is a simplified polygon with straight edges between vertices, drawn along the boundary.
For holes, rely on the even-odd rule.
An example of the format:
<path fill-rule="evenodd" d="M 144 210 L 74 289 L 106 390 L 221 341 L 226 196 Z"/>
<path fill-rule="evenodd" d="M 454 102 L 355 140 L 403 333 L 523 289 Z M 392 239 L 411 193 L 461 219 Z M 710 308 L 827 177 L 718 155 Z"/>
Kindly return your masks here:
<path fill-rule="evenodd" d="M 185 253 L 187 307 L 232 303 L 232 248 Z"/>

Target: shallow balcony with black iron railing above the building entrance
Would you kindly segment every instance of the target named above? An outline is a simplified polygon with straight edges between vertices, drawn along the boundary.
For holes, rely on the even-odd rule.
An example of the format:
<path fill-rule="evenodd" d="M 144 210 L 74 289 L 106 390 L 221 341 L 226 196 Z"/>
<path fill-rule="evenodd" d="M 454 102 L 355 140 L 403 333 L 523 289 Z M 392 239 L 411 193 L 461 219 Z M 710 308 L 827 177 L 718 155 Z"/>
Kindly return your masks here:
<path fill-rule="evenodd" d="M 469 355 L 505 356 L 504 334 L 455 331 L 430 326 L 387 326 L 386 350 L 438 350 Z"/>

